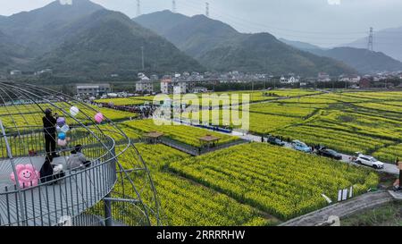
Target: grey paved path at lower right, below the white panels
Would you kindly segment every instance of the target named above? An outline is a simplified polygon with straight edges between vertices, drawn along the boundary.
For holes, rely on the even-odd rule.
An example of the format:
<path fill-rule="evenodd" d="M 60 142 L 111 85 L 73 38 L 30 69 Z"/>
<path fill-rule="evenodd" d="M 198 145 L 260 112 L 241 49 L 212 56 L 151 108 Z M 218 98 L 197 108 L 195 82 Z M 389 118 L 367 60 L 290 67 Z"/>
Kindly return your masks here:
<path fill-rule="evenodd" d="M 382 204 L 391 202 L 393 198 L 388 191 L 376 191 L 366 193 L 348 201 L 337 203 L 331 206 L 324 207 L 307 215 L 299 216 L 289 220 L 286 223 L 281 223 L 281 226 L 314 226 L 318 223 L 323 223 L 328 220 L 331 215 L 344 218 L 348 215 L 356 214 L 364 209 L 373 208 Z"/>

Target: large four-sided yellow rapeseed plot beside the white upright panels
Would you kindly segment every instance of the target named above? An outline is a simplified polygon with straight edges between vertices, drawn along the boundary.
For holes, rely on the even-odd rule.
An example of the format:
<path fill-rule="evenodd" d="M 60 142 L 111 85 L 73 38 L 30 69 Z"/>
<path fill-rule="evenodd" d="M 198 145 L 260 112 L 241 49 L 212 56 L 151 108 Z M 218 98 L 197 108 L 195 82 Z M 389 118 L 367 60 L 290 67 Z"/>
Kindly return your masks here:
<path fill-rule="evenodd" d="M 355 195 L 377 185 L 376 173 L 287 148 L 252 143 L 170 164 L 173 172 L 226 193 L 282 220 L 322 206 L 322 194 L 355 186 Z"/>

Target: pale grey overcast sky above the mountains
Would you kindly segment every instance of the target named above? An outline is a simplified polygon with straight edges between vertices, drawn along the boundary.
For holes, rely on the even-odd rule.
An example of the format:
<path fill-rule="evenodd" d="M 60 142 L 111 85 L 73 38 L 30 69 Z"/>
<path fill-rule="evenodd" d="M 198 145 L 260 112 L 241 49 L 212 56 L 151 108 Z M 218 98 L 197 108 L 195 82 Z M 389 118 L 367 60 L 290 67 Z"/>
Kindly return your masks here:
<path fill-rule="evenodd" d="M 54 0 L 0 0 L 0 15 L 41 7 Z M 66 0 L 63 0 L 66 1 Z M 72 0 L 73 1 L 73 0 Z M 92 0 L 130 17 L 137 0 Z M 172 0 L 140 0 L 141 13 L 172 9 Z M 206 0 L 213 19 L 241 32 L 267 31 L 278 38 L 335 46 L 366 36 L 368 29 L 402 26 L 401 0 Z M 205 13 L 205 0 L 176 0 L 179 13 Z M 381 41 L 381 40 L 378 40 Z"/>

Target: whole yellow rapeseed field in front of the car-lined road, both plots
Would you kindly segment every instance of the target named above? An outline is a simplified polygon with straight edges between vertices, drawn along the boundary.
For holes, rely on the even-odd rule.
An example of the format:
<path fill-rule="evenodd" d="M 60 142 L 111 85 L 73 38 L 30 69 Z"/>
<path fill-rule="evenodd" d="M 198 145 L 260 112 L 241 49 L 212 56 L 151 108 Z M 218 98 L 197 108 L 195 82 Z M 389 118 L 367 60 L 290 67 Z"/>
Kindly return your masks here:
<path fill-rule="evenodd" d="M 379 180 L 364 168 L 260 143 L 197 157 L 163 145 L 137 147 L 167 225 L 278 224 L 327 206 L 322 193 L 335 199 L 338 189 L 354 185 L 358 195 Z M 120 159 L 128 169 L 131 155 Z"/>

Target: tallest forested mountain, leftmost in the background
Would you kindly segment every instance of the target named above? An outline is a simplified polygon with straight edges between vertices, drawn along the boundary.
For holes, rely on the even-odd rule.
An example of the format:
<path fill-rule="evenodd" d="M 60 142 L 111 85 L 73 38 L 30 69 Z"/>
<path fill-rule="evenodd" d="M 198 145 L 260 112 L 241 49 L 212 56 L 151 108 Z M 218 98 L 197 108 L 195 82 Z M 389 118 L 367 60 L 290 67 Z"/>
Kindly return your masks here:
<path fill-rule="evenodd" d="M 88 0 L 43 8 L 0 19 L 3 56 L 0 70 L 38 71 L 107 77 L 113 73 L 204 71 L 196 60 L 122 13 Z M 12 46 L 15 44 L 16 46 Z M 26 50 L 14 54 L 10 50 Z M 142 50 L 144 66 L 142 69 Z M 20 57 L 20 60 L 14 57 Z"/>

